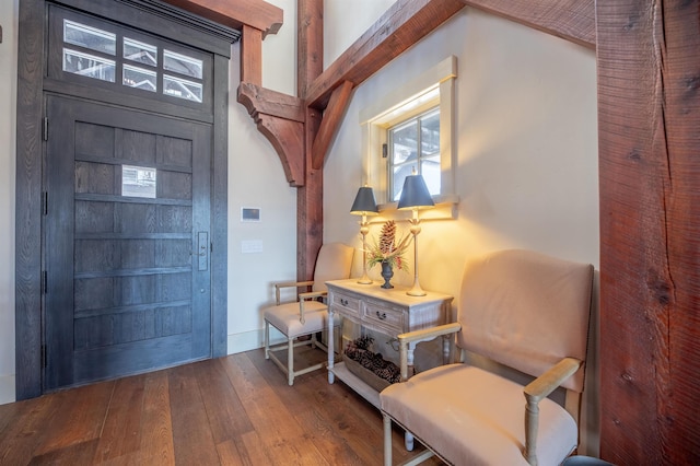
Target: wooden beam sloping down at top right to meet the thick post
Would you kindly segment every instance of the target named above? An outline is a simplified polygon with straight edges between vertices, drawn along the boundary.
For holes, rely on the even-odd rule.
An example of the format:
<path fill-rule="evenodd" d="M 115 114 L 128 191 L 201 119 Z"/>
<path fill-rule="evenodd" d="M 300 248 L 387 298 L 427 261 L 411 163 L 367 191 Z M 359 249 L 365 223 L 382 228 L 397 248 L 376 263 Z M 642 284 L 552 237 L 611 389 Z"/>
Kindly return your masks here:
<path fill-rule="evenodd" d="M 464 3 L 595 48 L 595 0 L 464 0 Z"/>

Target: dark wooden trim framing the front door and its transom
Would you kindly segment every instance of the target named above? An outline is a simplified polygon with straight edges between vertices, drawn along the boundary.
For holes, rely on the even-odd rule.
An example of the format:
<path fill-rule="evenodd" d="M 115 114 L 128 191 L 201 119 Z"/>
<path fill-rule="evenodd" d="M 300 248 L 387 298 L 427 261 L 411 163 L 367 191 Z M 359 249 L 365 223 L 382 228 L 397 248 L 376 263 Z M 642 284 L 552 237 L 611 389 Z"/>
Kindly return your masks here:
<path fill-rule="evenodd" d="M 16 399 L 43 394 L 43 252 L 42 203 L 44 156 L 44 63 L 46 47 L 46 0 L 20 0 L 16 177 L 15 177 L 15 387 Z M 91 1 L 88 4 L 100 2 Z M 142 8 L 152 0 L 130 0 Z M 180 27 L 183 11 L 158 3 L 161 18 L 176 20 Z M 86 11 L 90 13 L 90 11 Z M 214 57 L 213 68 L 213 140 L 211 168 L 211 353 L 226 354 L 228 334 L 228 93 L 231 43 L 238 38 L 233 30 L 195 15 L 189 18 L 194 35 L 207 34 Z M 202 24 L 210 24 L 202 31 Z"/>

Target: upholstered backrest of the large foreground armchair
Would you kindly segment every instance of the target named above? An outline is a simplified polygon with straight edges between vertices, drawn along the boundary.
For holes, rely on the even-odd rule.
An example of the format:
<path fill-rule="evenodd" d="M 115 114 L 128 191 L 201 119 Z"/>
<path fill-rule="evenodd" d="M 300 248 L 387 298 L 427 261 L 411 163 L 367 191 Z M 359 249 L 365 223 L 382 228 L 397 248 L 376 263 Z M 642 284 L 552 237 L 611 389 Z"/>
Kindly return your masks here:
<path fill-rule="evenodd" d="M 586 359 L 593 266 L 532 251 L 469 260 L 457 345 L 532 376 L 562 358 Z M 581 393 L 584 371 L 562 386 Z"/>

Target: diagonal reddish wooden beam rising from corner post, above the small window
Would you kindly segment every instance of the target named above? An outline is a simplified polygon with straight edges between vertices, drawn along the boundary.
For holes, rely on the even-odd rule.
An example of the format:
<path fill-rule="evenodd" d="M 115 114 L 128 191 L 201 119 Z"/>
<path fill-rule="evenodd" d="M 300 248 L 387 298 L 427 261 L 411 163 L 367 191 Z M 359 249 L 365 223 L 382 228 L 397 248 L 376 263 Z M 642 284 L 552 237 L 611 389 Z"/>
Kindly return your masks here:
<path fill-rule="evenodd" d="M 362 83 L 463 8 L 463 0 L 398 0 L 314 80 L 306 105 L 324 109 L 345 81 Z"/>

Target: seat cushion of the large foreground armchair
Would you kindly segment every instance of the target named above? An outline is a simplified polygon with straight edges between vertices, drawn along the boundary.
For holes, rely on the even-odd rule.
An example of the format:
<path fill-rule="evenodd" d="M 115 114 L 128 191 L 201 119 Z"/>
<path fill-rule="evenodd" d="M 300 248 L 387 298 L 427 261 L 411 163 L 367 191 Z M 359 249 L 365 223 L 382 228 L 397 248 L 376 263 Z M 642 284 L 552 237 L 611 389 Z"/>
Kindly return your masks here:
<path fill-rule="evenodd" d="M 467 364 L 448 364 L 394 384 L 382 410 L 457 465 L 527 465 L 523 387 Z M 539 405 L 537 459 L 560 464 L 576 446 L 573 418 L 558 404 Z"/>

